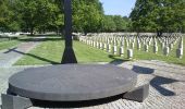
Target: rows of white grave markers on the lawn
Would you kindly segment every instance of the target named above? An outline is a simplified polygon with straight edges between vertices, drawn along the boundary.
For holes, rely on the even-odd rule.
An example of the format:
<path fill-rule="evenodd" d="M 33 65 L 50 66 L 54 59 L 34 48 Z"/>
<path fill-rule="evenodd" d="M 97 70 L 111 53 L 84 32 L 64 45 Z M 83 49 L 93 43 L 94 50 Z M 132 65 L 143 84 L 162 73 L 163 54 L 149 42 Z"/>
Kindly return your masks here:
<path fill-rule="evenodd" d="M 183 58 L 183 36 L 178 34 L 162 37 L 156 37 L 153 35 L 90 34 L 88 36 L 79 36 L 79 41 L 116 56 L 124 56 L 124 47 L 126 47 L 128 59 L 133 58 L 136 45 L 138 50 L 141 50 L 141 47 L 144 47 L 146 52 L 148 52 L 149 47 L 152 46 L 153 52 L 158 53 L 158 44 L 160 44 L 163 55 L 169 56 L 170 50 L 172 50 L 178 41 L 176 57 L 180 59 Z"/>

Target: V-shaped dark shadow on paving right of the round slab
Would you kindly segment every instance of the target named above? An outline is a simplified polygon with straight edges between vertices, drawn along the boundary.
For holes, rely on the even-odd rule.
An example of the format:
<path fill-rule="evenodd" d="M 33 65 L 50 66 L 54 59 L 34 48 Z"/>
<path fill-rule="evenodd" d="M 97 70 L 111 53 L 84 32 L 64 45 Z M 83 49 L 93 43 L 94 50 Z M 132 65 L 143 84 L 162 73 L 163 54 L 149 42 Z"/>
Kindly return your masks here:
<path fill-rule="evenodd" d="M 174 96 L 175 95 L 174 92 L 166 89 L 166 88 L 161 86 L 163 84 L 171 84 L 171 83 L 174 83 L 174 82 L 178 82 L 178 81 L 173 80 L 173 78 L 162 77 L 162 76 L 156 76 L 155 78 L 152 78 L 150 81 L 150 84 L 151 84 L 152 87 L 155 87 L 163 96 Z"/>

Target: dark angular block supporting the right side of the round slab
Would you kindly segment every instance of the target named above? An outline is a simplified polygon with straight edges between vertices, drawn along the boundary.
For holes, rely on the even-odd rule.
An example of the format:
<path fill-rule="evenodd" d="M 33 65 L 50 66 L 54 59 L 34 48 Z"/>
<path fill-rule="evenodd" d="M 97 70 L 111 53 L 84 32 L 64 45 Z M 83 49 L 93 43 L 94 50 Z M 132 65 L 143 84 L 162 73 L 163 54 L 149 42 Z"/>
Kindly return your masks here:
<path fill-rule="evenodd" d="M 149 95 L 149 84 L 136 87 L 123 95 L 123 98 L 143 102 Z"/>

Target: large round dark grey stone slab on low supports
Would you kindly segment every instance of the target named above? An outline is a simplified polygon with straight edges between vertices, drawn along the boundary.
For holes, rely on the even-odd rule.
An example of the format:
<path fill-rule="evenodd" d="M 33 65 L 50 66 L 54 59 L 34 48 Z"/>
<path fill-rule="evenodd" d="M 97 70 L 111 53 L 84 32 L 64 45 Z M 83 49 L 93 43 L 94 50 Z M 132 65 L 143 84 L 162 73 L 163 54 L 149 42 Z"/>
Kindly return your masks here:
<path fill-rule="evenodd" d="M 115 65 L 61 64 L 24 70 L 9 80 L 9 92 L 49 101 L 92 100 L 134 88 L 137 74 Z"/>

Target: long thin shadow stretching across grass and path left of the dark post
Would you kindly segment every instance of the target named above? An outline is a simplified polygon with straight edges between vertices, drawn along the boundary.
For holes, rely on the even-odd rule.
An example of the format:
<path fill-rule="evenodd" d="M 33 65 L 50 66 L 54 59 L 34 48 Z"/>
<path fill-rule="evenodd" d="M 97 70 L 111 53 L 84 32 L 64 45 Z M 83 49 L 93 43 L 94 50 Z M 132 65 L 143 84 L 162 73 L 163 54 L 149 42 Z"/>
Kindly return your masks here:
<path fill-rule="evenodd" d="M 45 62 L 48 62 L 48 63 L 51 63 L 51 64 L 60 64 L 59 62 L 51 61 L 51 60 L 48 60 L 48 59 L 46 59 L 46 58 L 41 58 L 41 57 L 32 55 L 32 53 L 25 53 L 25 52 L 18 51 L 18 50 L 16 50 L 16 48 L 14 48 L 14 49 L 9 49 L 9 50 L 5 51 L 5 52 L 8 53 L 8 52 L 11 52 L 11 51 L 16 52 L 16 53 L 21 53 L 21 55 L 24 55 L 24 56 L 33 57 L 33 58 L 35 58 L 35 59 L 38 59 L 38 60 L 41 60 L 41 61 L 45 61 Z"/>

